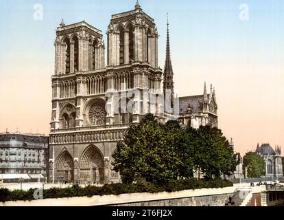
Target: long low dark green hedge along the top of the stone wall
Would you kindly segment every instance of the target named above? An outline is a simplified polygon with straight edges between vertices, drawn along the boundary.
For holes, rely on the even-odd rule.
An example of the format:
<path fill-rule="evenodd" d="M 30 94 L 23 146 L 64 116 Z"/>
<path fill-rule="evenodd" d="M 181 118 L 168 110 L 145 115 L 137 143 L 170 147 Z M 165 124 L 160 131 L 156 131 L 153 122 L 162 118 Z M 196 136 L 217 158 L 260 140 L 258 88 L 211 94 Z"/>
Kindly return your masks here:
<path fill-rule="evenodd" d="M 233 186 L 228 180 L 223 179 L 179 179 L 171 180 L 166 184 L 153 184 L 139 179 L 136 184 L 105 184 L 102 187 L 72 186 L 67 188 L 49 188 L 43 190 L 43 198 L 62 198 L 62 197 L 91 197 L 93 195 L 119 195 L 122 193 L 132 192 L 174 192 L 179 190 L 188 190 L 196 188 L 220 188 Z M 16 200 L 32 200 L 34 199 L 34 191 L 36 188 L 29 190 L 8 190 L 0 188 L 0 201 L 16 201 Z"/>

